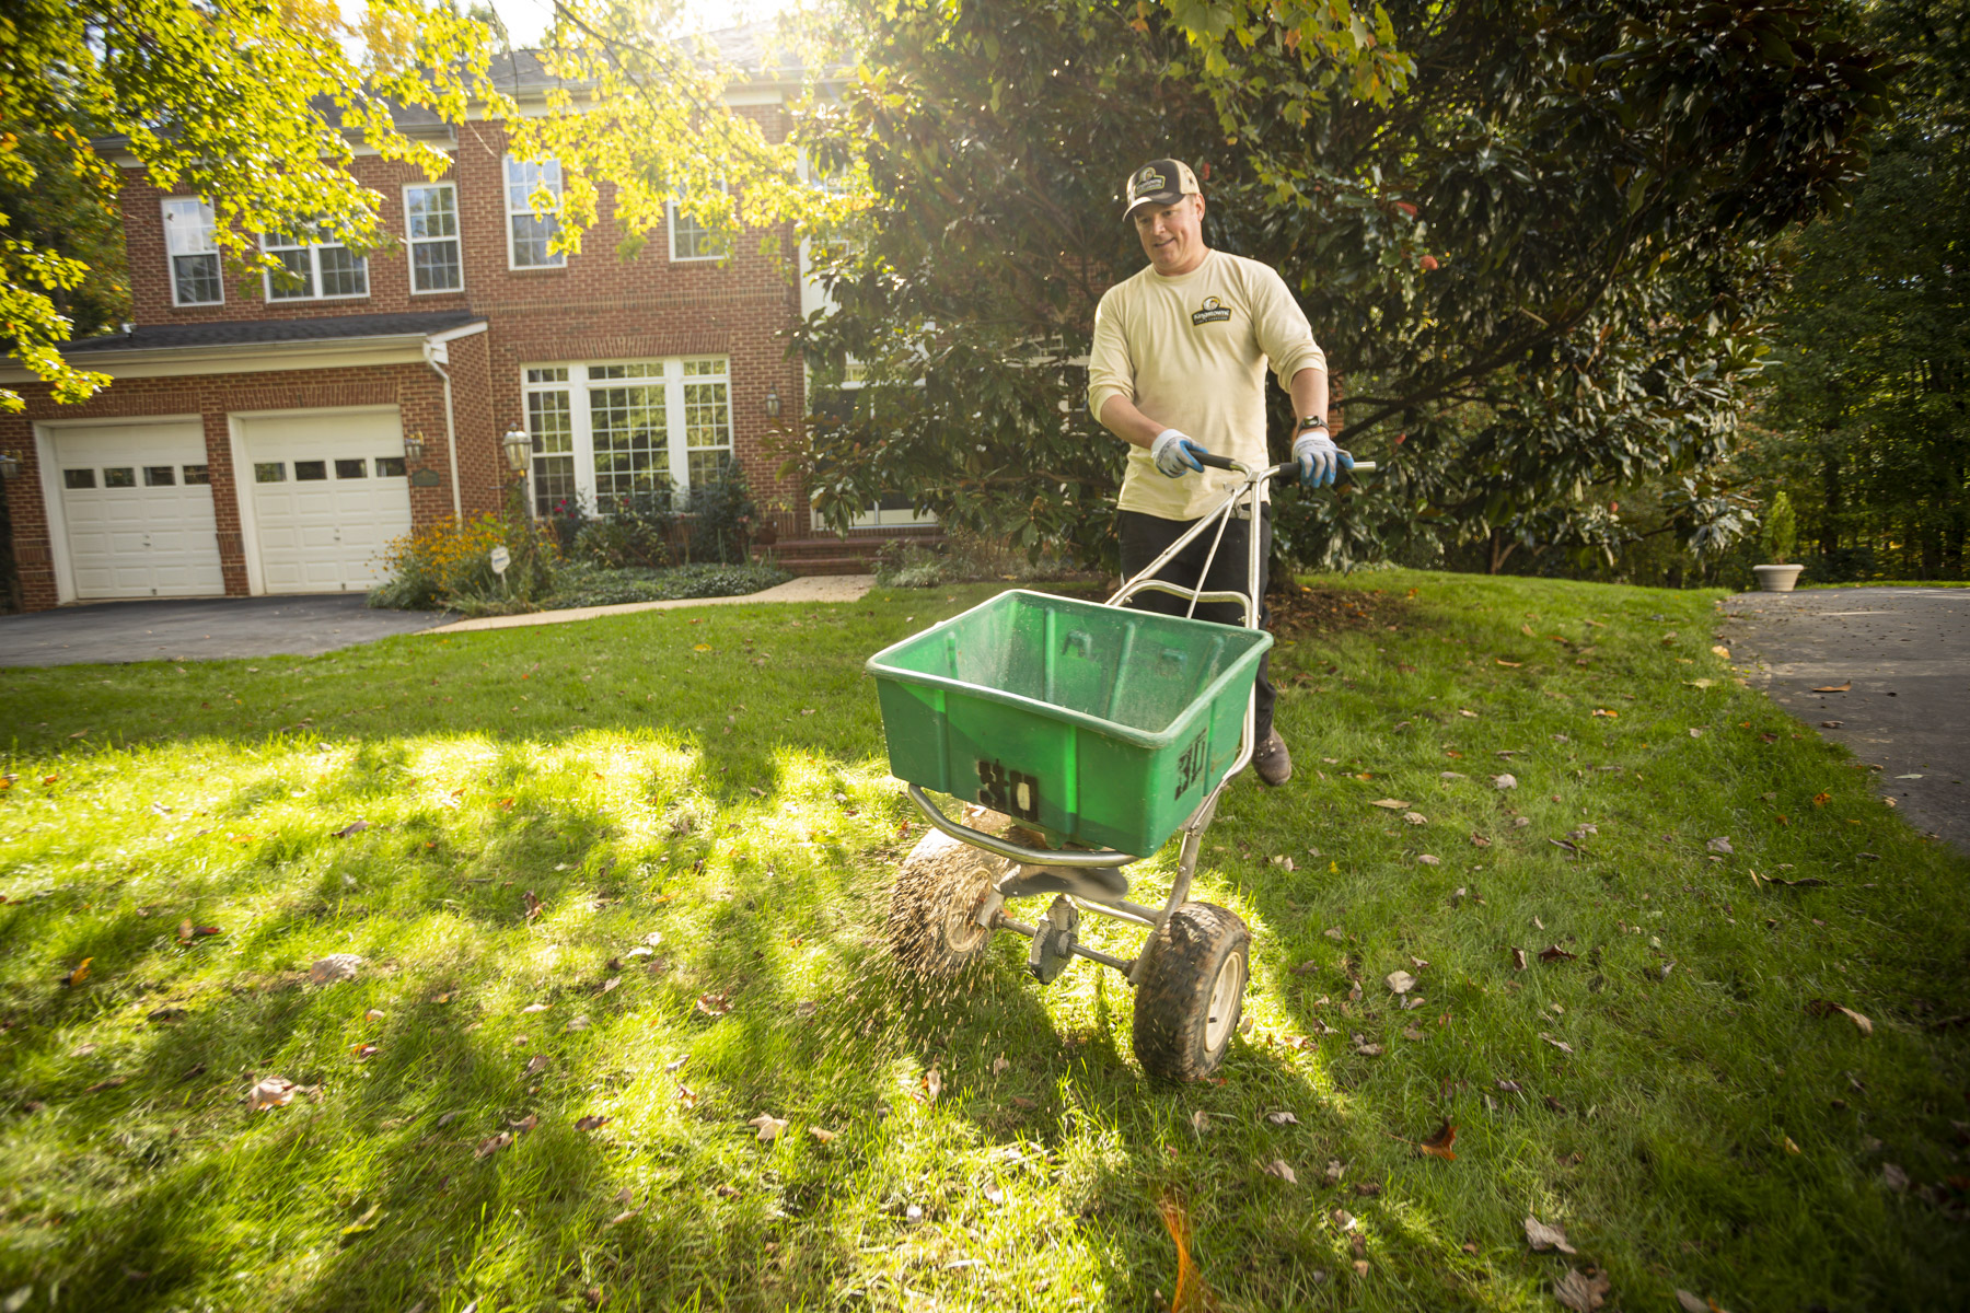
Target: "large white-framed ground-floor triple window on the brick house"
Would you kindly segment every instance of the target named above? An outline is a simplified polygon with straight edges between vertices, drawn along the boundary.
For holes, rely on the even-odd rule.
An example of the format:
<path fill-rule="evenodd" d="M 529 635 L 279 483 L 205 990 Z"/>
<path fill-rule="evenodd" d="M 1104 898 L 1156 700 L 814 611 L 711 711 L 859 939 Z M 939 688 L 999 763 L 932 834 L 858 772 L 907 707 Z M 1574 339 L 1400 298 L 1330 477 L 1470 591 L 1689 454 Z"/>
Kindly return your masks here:
<path fill-rule="evenodd" d="M 528 366 L 524 392 L 542 516 L 563 504 L 611 514 L 642 496 L 678 496 L 733 459 L 725 356 Z"/>

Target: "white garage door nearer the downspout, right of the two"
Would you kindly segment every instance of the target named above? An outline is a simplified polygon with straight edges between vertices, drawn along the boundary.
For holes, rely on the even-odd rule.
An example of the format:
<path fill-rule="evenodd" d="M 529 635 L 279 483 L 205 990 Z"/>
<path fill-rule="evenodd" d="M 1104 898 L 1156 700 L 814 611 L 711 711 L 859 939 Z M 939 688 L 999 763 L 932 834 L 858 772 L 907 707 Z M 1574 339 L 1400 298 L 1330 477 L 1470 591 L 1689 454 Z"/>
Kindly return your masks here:
<path fill-rule="evenodd" d="M 268 593 L 359 593 L 410 533 L 410 480 L 396 411 L 321 411 L 240 421 L 260 581 Z"/>

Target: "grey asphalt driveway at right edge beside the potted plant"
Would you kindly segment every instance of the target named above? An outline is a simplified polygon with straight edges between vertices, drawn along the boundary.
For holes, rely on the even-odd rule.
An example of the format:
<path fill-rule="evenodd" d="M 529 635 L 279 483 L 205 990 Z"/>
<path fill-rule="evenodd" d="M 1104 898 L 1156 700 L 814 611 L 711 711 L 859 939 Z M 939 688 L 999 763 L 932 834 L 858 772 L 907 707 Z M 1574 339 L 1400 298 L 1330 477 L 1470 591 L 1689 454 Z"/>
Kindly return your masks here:
<path fill-rule="evenodd" d="M 1911 825 L 1970 852 L 1970 589 L 1745 593 L 1724 616 L 1732 659 L 1773 701 L 1875 766 Z"/>

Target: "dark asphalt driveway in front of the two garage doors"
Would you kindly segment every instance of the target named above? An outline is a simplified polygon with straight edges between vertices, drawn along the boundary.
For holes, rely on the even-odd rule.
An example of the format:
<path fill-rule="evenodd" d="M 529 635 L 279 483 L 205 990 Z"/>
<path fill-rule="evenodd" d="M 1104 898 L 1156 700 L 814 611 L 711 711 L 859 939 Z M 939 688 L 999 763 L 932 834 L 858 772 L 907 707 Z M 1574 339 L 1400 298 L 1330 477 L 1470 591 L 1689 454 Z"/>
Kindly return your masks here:
<path fill-rule="evenodd" d="M 0 616 L 0 665 L 315 656 L 445 620 L 441 610 L 370 610 L 361 593 L 93 602 Z"/>

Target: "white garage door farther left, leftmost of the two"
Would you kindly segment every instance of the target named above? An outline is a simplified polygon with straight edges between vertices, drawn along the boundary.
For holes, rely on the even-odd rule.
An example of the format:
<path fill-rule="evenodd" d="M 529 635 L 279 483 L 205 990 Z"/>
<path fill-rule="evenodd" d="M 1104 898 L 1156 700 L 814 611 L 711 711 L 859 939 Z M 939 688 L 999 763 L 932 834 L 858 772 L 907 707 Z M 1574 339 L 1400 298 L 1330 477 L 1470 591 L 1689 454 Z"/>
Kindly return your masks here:
<path fill-rule="evenodd" d="M 199 421 L 61 427 L 51 435 L 77 596 L 227 591 Z"/>

